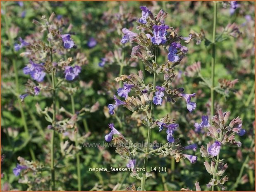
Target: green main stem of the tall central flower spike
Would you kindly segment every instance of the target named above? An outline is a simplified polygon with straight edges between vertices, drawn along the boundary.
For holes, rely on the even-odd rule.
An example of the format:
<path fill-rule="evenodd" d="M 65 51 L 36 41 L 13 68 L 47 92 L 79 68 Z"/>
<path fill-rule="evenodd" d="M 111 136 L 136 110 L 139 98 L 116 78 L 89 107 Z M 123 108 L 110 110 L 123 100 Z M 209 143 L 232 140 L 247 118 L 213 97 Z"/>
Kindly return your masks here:
<path fill-rule="evenodd" d="M 157 48 L 155 49 L 155 63 L 156 63 L 156 53 L 157 53 Z M 155 92 L 155 87 L 156 87 L 156 72 L 154 72 L 154 77 L 153 77 L 153 92 Z M 151 102 L 151 109 L 150 109 L 150 116 L 148 119 L 151 119 L 152 115 L 153 115 L 153 109 L 154 109 L 154 104 L 153 101 Z M 146 153 L 145 153 L 145 159 L 144 159 L 144 172 L 142 173 L 142 180 L 141 180 L 141 191 L 145 190 L 145 181 L 146 181 L 146 167 L 148 165 L 148 151 L 149 151 L 149 142 L 150 142 L 150 138 L 151 138 L 151 126 L 148 123 L 148 137 L 147 137 L 147 146 L 146 146 Z"/>

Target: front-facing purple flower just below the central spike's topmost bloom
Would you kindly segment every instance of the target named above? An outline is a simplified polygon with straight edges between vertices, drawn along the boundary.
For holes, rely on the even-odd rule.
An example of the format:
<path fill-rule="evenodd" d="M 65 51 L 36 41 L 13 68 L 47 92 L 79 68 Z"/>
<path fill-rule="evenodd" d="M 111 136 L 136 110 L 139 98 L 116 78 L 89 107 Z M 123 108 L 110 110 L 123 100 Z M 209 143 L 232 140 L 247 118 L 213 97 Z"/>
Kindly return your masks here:
<path fill-rule="evenodd" d="M 151 42 L 155 45 L 165 44 L 166 42 L 166 34 L 169 26 L 167 25 L 154 25 L 153 26 L 153 37 L 151 38 Z"/>

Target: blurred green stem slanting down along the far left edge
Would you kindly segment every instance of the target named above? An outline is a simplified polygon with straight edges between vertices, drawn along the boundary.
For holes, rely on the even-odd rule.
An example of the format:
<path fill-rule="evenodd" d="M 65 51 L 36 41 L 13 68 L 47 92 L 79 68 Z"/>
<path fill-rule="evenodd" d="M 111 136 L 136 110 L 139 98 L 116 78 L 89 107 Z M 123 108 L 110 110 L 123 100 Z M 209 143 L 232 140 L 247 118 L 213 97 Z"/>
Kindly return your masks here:
<path fill-rule="evenodd" d="M 5 4 L 3 5 L 3 9 L 6 12 Z M 9 22 L 8 22 L 8 19 L 7 19 L 6 15 L 5 15 L 5 27 L 6 27 L 5 32 L 7 33 L 10 47 L 12 47 L 11 48 L 12 49 L 12 54 L 15 55 L 15 52 L 14 52 L 14 49 L 13 49 L 13 40 L 12 40 L 12 37 L 10 35 Z M 20 94 L 19 93 L 19 76 L 18 76 L 18 70 L 17 70 L 17 65 L 16 65 L 16 62 L 15 62 L 15 58 L 13 58 L 13 57 L 12 57 L 12 65 L 13 65 L 14 74 L 15 74 L 16 92 L 17 92 L 17 95 L 19 96 L 19 94 Z M 23 110 L 23 107 L 22 107 L 22 102 L 21 102 L 19 97 L 17 99 L 18 99 L 18 103 L 19 103 L 19 111 L 20 111 L 21 116 L 22 116 L 22 123 L 23 123 L 23 126 L 24 126 L 26 138 L 29 138 L 29 129 L 28 129 L 28 126 L 27 126 L 27 123 L 26 123 L 26 117 L 25 117 L 24 110 Z M 36 157 L 35 157 L 35 154 L 33 152 L 33 149 L 31 147 L 31 145 L 29 145 L 29 152 L 31 154 L 32 160 L 36 161 Z"/>

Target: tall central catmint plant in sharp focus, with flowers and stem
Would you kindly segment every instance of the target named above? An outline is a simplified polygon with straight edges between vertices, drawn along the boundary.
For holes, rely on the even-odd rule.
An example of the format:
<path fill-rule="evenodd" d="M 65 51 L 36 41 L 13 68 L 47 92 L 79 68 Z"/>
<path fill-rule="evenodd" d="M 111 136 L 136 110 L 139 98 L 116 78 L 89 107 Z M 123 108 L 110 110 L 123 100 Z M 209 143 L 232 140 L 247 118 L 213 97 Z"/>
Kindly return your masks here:
<path fill-rule="evenodd" d="M 136 145 L 133 145 L 131 140 L 125 139 L 125 137 L 118 131 L 113 123 L 110 123 L 110 133 L 105 135 L 107 142 L 114 142 L 116 145 L 116 152 L 122 156 L 122 158 L 129 160 L 127 167 L 136 167 L 136 158 L 139 158 L 139 153 L 144 154 L 145 169 L 148 164 L 148 158 L 151 154 L 157 155 L 170 155 L 174 156 L 176 161 L 184 158 L 188 159 L 191 163 L 196 162 L 197 157 L 184 153 L 185 150 L 196 151 L 197 145 L 192 144 L 187 147 L 182 147 L 179 139 L 174 136 L 175 130 L 178 128 L 178 124 L 175 123 L 175 119 L 171 119 L 169 114 L 163 118 L 154 118 L 155 105 L 161 105 L 163 99 L 167 102 L 175 102 L 178 98 L 184 98 L 187 103 L 187 110 L 192 112 L 196 108 L 196 103 L 191 99 L 195 96 L 193 94 L 185 94 L 184 88 L 172 88 L 172 81 L 175 78 L 174 67 L 177 66 L 184 55 L 186 55 L 188 49 L 183 46 L 182 43 L 189 43 L 192 39 L 191 36 L 183 38 L 179 36 L 176 31 L 165 24 L 165 18 L 167 12 L 160 10 L 158 14 L 153 14 L 147 7 L 142 6 L 142 17 L 137 20 L 139 33 L 134 33 L 124 28 L 122 31 L 124 36 L 121 39 L 121 43 L 134 43 L 137 44 L 132 48 L 132 58 L 138 58 L 144 63 L 145 70 L 150 74 L 153 74 L 153 83 L 144 83 L 143 71 L 138 71 L 138 74 L 131 73 L 129 75 L 121 75 L 115 78 L 117 82 L 123 81 L 123 87 L 117 90 L 117 95 L 121 97 L 118 99 L 114 95 L 114 104 L 109 104 L 108 109 L 111 115 L 115 114 L 117 106 L 123 106 L 134 113 L 140 113 L 144 126 L 148 128 L 148 136 L 146 138 L 146 150 L 139 149 Z M 162 48 L 167 50 L 168 60 L 160 64 L 157 62 L 158 49 Z M 163 76 L 164 82 L 158 83 L 158 77 Z M 130 96 L 134 93 L 134 96 Z M 151 131 L 158 127 L 159 132 L 165 130 L 167 143 L 162 147 L 150 150 Z M 129 144 L 129 147 L 127 145 Z M 138 153 L 137 153 L 138 152 Z M 150 177 L 145 171 L 140 175 L 133 172 L 131 176 L 141 180 L 141 187 L 138 190 L 145 190 L 145 180 Z"/>

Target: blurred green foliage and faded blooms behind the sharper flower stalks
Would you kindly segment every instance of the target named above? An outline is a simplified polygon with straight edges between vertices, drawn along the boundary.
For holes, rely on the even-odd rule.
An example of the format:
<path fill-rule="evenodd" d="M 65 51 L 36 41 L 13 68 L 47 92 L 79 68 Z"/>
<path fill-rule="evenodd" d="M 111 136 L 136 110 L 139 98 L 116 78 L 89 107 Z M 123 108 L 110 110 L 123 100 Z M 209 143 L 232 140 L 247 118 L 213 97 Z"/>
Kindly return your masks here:
<path fill-rule="evenodd" d="M 115 127 L 133 142 L 142 142 L 147 134 L 147 129 L 142 125 L 139 115 L 130 116 L 127 109 L 117 109 L 115 116 L 109 116 L 107 105 L 113 103 L 113 94 L 119 85 L 114 78 L 120 76 L 120 62 L 122 74 L 129 74 L 143 69 L 141 61 L 131 59 L 132 45 L 122 45 L 122 28 L 130 28 L 136 32 L 136 19 L 141 17 L 139 7 L 146 5 L 152 12 L 158 13 L 160 9 L 169 14 L 166 24 L 172 26 L 180 35 L 187 37 L 193 34 L 196 41 L 188 46 L 188 53 L 182 64 L 175 67 L 174 88 L 184 87 L 186 93 L 196 93 L 196 110 L 188 113 L 184 100 L 177 100 L 175 104 L 164 102 L 156 107 L 156 118 L 169 113 L 179 123 L 175 137 L 179 137 L 182 145 L 197 143 L 206 145 L 210 140 L 205 133 L 194 132 L 194 123 L 201 121 L 202 115 L 210 115 L 210 89 L 201 82 L 201 78 L 191 71 L 191 66 L 196 62 L 201 63 L 201 75 L 211 77 L 211 46 L 207 39 L 212 39 L 213 27 L 213 2 L 1 2 L 1 183 L 2 190 L 26 190 L 26 178 L 13 174 L 17 165 L 18 156 L 31 160 L 28 149 L 28 140 L 24 133 L 23 121 L 17 100 L 15 87 L 15 74 L 12 62 L 16 62 L 18 70 L 19 93 L 24 93 L 28 79 L 22 69 L 28 64 L 26 57 L 21 57 L 19 52 L 13 52 L 14 43 L 23 39 L 39 36 L 40 28 L 32 23 L 33 19 L 39 20 L 42 15 L 47 18 L 55 12 L 57 19 L 62 19 L 66 28 L 77 45 L 72 52 L 84 54 L 86 65 L 82 67 L 79 87 L 75 95 L 76 110 L 82 107 L 96 106 L 96 110 L 86 113 L 85 118 L 79 121 L 79 132 L 86 135 L 88 143 L 103 144 L 104 136 L 109 133 L 108 124 L 115 123 Z M 254 130 L 255 130 L 255 7 L 252 1 L 238 2 L 237 8 L 232 9 L 228 2 L 218 3 L 216 66 L 215 85 L 219 88 L 215 93 L 215 109 L 222 107 L 223 111 L 231 111 L 230 120 L 240 116 L 246 135 L 240 138 L 242 147 L 224 147 L 221 158 L 225 158 L 229 168 L 226 175 L 229 181 L 225 183 L 227 190 L 253 191 L 255 187 L 254 164 Z M 234 25 L 230 25 L 233 24 Z M 7 26 L 9 32 L 7 31 Z M 201 31 L 203 30 L 203 31 Z M 9 34 L 9 36 L 7 35 Z M 205 38 L 200 42 L 200 36 Z M 45 41 L 46 37 L 43 37 Z M 93 42 L 92 42 L 93 41 Z M 96 43 L 95 43 L 96 42 Z M 159 63 L 167 60 L 167 52 L 159 52 Z M 105 65 L 99 66 L 100 59 L 106 58 Z M 153 77 L 144 72 L 145 82 L 152 82 Z M 233 80 L 238 79 L 234 85 Z M 163 81 L 162 78 L 158 82 Z M 98 103 L 97 103 L 98 102 Z M 48 93 L 39 96 L 28 96 L 22 103 L 26 123 L 36 159 L 42 164 L 49 165 L 49 130 L 47 121 L 36 112 L 36 103 L 43 109 L 50 106 L 52 99 Z M 67 101 L 64 92 L 58 92 L 58 106 L 65 106 L 71 111 L 71 104 Z M 166 134 L 158 133 L 154 129 L 152 141 L 166 142 Z M 60 142 L 60 141 L 56 141 Z M 60 149 L 59 144 L 56 144 Z M 117 183 L 122 183 L 120 188 L 140 182 L 131 178 L 124 172 L 90 172 L 89 168 L 100 167 L 125 167 L 127 161 L 115 153 L 114 147 L 81 147 L 81 177 L 82 190 L 113 190 Z M 58 154 L 56 154 L 58 156 Z M 146 189 L 151 191 L 173 190 L 189 187 L 195 190 L 194 183 L 198 181 L 202 190 L 208 190 L 206 184 L 211 175 L 206 172 L 199 149 L 196 152 L 198 161 L 191 165 L 189 161 L 181 160 L 175 163 L 170 157 L 152 156 L 148 167 L 166 167 L 166 173 L 154 172 L 153 177 L 146 180 Z M 75 159 L 61 161 L 62 167 L 56 171 L 58 190 L 75 190 L 76 167 Z M 68 166 L 67 166 L 68 165 Z M 143 160 L 137 160 L 141 167 Z M 241 171 L 241 168 L 243 170 Z M 240 178 L 239 178 L 240 174 Z M 50 173 L 43 171 L 41 178 L 48 180 Z M 35 180 L 36 181 L 36 180 Z M 23 183 L 23 184 L 22 184 Z M 236 185 L 234 186 L 234 184 Z M 37 188 L 36 188 L 37 187 Z M 40 184 L 33 190 L 49 190 L 47 182 Z M 235 187 L 235 188 L 234 188 Z"/>

